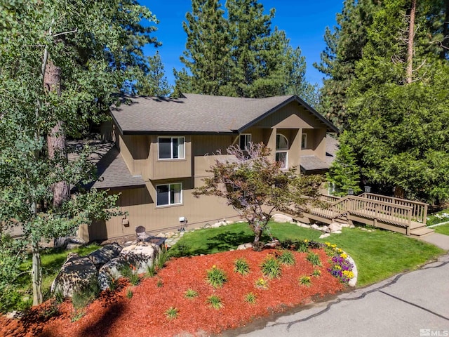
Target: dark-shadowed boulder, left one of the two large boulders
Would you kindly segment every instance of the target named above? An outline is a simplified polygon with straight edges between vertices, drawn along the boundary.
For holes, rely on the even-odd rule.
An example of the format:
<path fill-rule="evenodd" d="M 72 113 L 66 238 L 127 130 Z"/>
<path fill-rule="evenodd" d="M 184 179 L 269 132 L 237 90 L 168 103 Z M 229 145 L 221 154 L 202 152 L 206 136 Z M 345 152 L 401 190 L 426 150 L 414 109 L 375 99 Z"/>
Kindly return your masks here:
<path fill-rule="evenodd" d="M 69 253 L 67 260 L 51 284 L 52 293 L 60 293 L 64 297 L 72 297 L 80 291 L 97 282 L 97 268 L 91 258 L 80 258 L 77 253 Z"/>

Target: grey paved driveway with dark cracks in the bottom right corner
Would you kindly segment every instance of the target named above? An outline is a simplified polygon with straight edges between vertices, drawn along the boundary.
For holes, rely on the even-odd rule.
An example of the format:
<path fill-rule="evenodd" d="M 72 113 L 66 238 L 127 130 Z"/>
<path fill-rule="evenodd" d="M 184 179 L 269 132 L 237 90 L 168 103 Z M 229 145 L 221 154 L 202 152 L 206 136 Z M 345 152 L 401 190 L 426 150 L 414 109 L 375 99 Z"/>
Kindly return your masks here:
<path fill-rule="evenodd" d="M 425 241 L 449 245 L 448 236 L 434 235 Z M 222 336 L 449 336 L 449 254 L 420 270 L 297 309 Z"/>

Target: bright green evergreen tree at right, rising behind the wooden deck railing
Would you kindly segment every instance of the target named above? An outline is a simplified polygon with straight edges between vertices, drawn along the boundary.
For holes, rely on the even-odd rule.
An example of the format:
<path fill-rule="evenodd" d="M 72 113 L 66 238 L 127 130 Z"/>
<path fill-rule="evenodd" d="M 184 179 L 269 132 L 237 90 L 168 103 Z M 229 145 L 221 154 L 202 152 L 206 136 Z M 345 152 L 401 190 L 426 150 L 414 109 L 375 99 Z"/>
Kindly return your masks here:
<path fill-rule="evenodd" d="M 449 197 L 449 62 L 433 43 L 443 20 L 427 25 L 434 5 L 382 2 L 348 91 L 342 143 L 351 145 L 363 176 L 378 187 L 440 202 Z"/>

